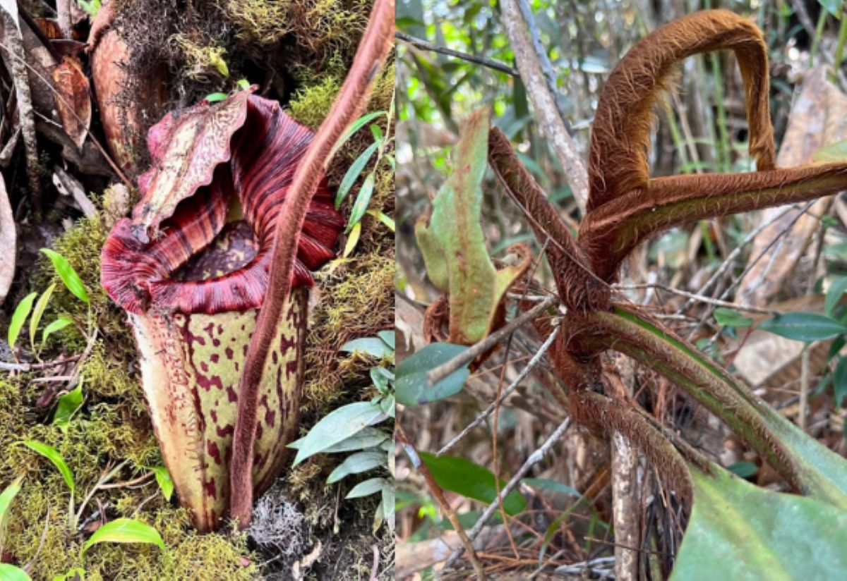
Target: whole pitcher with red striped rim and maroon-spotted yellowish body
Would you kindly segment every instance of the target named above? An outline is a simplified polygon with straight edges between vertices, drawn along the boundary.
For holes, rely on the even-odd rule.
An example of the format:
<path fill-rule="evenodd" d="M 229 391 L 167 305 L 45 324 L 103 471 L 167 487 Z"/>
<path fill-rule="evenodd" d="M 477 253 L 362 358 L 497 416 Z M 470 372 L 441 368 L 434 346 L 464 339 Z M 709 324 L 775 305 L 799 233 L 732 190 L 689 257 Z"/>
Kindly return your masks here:
<path fill-rule="evenodd" d="M 239 381 L 268 289 L 276 225 L 313 132 L 242 90 L 171 112 L 150 129 L 141 200 L 102 250 L 102 286 L 129 315 L 152 424 L 183 506 L 201 531 L 230 512 Z M 255 496 L 296 437 L 310 271 L 334 257 L 344 221 L 321 180 L 300 233 L 291 295 L 262 371 Z"/>

